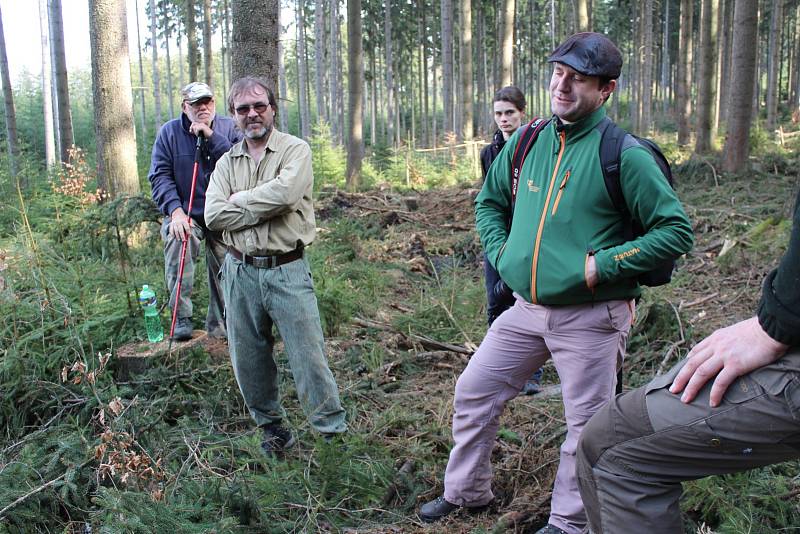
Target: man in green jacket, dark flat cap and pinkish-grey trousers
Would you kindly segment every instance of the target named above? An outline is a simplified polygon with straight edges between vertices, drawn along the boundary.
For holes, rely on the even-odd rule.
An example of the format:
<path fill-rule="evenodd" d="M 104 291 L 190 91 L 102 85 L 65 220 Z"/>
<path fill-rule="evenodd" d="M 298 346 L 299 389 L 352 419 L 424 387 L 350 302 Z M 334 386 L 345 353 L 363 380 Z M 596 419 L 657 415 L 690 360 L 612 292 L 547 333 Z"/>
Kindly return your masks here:
<path fill-rule="evenodd" d="M 643 235 L 626 240 L 600 165 L 604 103 L 616 88 L 622 55 L 607 37 L 578 33 L 548 58 L 552 120 L 521 166 L 511 167 L 520 131 L 506 143 L 475 200 L 488 261 L 516 301 L 491 326 L 455 388 L 454 446 L 444 493 L 419 516 L 435 521 L 494 498 L 491 455 L 505 403 L 531 372 L 553 359 L 567 426 L 541 534 L 580 533 L 586 514 L 575 477 L 575 451 L 586 421 L 614 395 L 625 352 L 638 275 L 692 246 L 692 228 L 651 153 L 626 138 L 620 185 Z M 515 197 L 512 210 L 512 197 Z M 508 225 L 511 218 L 512 224 Z"/>

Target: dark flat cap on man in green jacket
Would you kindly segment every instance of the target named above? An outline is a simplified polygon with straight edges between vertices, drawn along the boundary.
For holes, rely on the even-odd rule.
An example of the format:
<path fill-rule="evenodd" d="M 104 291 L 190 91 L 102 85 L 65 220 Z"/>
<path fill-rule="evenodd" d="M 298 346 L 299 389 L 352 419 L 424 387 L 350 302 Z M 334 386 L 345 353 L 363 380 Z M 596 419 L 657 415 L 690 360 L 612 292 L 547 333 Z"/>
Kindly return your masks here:
<path fill-rule="evenodd" d="M 622 71 L 622 54 L 611 39 L 601 33 L 581 32 L 553 50 L 548 63 L 563 63 L 586 76 L 615 80 Z"/>

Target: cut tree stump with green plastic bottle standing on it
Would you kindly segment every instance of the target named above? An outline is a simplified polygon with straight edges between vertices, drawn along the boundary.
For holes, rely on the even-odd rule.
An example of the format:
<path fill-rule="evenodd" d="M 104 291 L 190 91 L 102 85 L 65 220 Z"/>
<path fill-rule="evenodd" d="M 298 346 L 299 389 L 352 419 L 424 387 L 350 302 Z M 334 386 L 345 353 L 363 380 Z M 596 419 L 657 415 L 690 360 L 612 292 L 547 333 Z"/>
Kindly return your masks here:
<path fill-rule="evenodd" d="M 168 352 L 180 355 L 197 347 L 202 347 L 215 359 L 228 358 L 227 342 L 223 339 L 210 337 L 205 330 L 194 330 L 192 339 L 187 341 L 173 341 L 171 348 L 169 339 L 166 337 L 158 343 L 150 343 L 149 341 L 128 343 L 117 349 L 117 359 L 119 360 L 117 380 L 124 382 L 137 374 L 143 373 L 150 366 L 150 362 L 159 356 L 166 355 Z"/>

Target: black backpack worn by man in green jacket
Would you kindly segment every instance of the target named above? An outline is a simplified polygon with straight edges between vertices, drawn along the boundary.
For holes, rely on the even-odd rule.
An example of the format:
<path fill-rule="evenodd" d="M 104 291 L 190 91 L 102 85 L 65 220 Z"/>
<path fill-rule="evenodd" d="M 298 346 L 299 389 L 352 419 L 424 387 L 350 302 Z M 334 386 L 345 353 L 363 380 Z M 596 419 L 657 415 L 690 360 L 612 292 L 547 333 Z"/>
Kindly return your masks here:
<path fill-rule="evenodd" d="M 519 174 L 522 170 L 522 165 L 525 162 L 525 157 L 530 152 L 533 143 L 539 137 L 539 133 L 550 124 L 550 119 L 537 118 L 532 120 L 527 125 L 523 126 L 517 147 L 514 150 L 514 155 L 511 159 L 511 212 L 514 212 L 514 203 L 517 198 L 517 188 L 519 187 Z M 600 128 L 600 166 L 603 169 L 603 181 L 608 191 L 608 196 L 611 197 L 611 202 L 614 207 L 622 214 L 623 219 L 623 238 L 625 241 L 630 241 L 645 234 L 644 228 L 640 221 L 635 220 L 628 207 L 625 204 L 625 197 L 622 194 L 622 186 L 620 185 L 620 161 L 622 157 L 622 149 L 625 144 L 625 139 L 630 135 L 638 144 L 644 147 L 653 156 L 658 168 L 661 169 L 661 174 L 664 179 L 669 183 L 670 187 L 675 188 L 672 178 L 672 169 L 669 166 L 669 161 L 661 152 L 658 145 L 647 138 L 639 137 L 626 132 L 614 121 L 605 117 L 599 125 Z M 675 269 L 675 259 L 665 260 L 652 270 L 642 273 L 637 277 L 640 285 L 644 286 L 661 286 L 668 284 L 672 280 L 672 271 Z"/>

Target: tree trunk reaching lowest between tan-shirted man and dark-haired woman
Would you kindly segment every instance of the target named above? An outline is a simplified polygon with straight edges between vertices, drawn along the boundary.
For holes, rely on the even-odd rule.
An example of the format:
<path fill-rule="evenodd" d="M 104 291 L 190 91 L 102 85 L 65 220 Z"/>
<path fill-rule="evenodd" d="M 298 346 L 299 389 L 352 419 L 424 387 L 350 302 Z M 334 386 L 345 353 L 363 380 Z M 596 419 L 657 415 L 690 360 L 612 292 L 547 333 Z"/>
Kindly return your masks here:
<path fill-rule="evenodd" d="M 347 0 L 347 188 L 354 191 L 361 182 L 364 158 L 363 109 L 364 55 L 361 52 L 361 0 Z"/>

